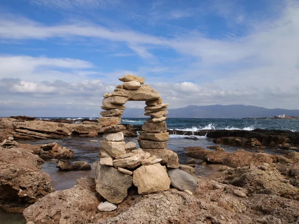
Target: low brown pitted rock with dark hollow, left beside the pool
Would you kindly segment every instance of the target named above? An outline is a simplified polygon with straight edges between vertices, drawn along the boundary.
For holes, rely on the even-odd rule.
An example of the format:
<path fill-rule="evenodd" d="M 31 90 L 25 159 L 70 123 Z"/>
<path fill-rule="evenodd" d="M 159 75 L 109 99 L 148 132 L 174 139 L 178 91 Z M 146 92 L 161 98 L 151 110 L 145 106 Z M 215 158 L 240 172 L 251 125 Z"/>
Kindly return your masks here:
<path fill-rule="evenodd" d="M 41 148 L 39 157 L 42 159 L 72 159 L 74 151 L 63 147 L 56 142 L 39 145 Z"/>

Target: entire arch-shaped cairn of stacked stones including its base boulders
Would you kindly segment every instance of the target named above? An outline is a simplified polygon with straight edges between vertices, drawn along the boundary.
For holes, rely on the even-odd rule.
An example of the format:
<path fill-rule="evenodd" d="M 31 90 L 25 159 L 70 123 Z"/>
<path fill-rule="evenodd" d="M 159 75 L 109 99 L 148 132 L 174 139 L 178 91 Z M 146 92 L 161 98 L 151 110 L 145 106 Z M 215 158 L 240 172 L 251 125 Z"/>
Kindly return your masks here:
<path fill-rule="evenodd" d="M 118 85 L 113 93 L 104 94 L 101 108 L 105 111 L 98 119 L 104 128 L 104 139 L 100 141 L 101 159 L 94 163 L 96 190 L 107 200 L 98 209 L 105 212 L 117 209 L 112 203 L 121 203 L 133 186 L 141 195 L 169 190 L 170 184 L 181 191 L 194 192 L 196 179 L 181 169 L 177 154 L 167 149 L 168 104 L 163 104 L 159 94 L 144 85 L 145 78 L 126 75 L 119 80 L 124 84 Z M 139 149 L 136 143 L 126 144 L 124 140 L 126 127 L 121 125 L 121 119 L 128 101 L 145 101 L 145 115 L 150 116 L 137 138 Z"/>

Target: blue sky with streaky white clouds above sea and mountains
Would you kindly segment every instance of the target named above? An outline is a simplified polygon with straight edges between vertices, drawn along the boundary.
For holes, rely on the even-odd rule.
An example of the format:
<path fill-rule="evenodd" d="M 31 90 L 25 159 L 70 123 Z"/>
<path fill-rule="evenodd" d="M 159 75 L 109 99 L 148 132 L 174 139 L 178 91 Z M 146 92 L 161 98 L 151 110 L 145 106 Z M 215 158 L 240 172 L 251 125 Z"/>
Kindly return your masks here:
<path fill-rule="evenodd" d="M 299 109 L 298 39 L 299 0 L 1 0 L 0 116 L 98 116 L 125 74 L 169 108 Z"/>

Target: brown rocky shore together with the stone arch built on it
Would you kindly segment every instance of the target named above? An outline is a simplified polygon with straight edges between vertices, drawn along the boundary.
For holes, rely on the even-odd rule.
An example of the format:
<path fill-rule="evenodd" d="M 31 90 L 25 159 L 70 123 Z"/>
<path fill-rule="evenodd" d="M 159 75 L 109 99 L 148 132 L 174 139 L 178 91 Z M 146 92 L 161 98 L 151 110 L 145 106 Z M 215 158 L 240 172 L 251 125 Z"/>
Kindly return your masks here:
<path fill-rule="evenodd" d="M 299 223 L 298 132 L 200 131 L 211 145 L 184 147 L 187 159 L 179 160 L 182 153 L 169 149 L 175 130 L 167 130 L 168 104 L 142 77 L 120 81 L 104 95 L 97 121 L 0 118 L 0 209 L 22 213 L 27 224 Z M 142 126 L 121 124 L 129 100 L 146 102 Z M 93 164 L 58 141 L 74 137 L 96 145 Z M 38 144 L 47 139 L 56 142 Z M 226 145 L 240 149 L 228 152 Z M 277 149 L 285 153 L 265 153 Z M 57 172 L 93 175 L 55 191 L 41 170 L 49 161 Z M 200 175 L 209 166 L 217 175 Z"/>

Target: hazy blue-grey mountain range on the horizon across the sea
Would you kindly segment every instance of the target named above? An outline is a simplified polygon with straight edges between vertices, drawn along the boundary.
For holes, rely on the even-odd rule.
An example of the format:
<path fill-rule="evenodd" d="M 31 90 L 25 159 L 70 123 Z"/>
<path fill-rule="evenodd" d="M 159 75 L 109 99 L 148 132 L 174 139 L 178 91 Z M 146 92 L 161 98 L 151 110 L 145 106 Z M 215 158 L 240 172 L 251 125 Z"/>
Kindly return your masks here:
<path fill-rule="evenodd" d="M 245 105 L 209 105 L 169 109 L 168 117 L 183 118 L 243 118 L 243 117 L 272 117 L 276 115 L 299 116 L 299 110 L 267 109 Z M 127 108 L 123 117 L 146 117 L 144 109 Z"/>

